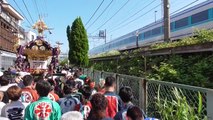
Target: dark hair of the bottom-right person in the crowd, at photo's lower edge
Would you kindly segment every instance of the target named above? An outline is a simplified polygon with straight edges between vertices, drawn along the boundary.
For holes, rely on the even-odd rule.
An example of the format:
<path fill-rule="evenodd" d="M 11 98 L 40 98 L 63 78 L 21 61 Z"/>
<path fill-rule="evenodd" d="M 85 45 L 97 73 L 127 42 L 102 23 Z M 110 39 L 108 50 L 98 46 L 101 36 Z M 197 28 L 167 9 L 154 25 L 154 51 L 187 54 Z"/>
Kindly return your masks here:
<path fill-rule="evenodd" d="M 132 120 L 143 120 L 143 112 L 137 106 L 129 107 L 126 115 L 130 117 Z"/>

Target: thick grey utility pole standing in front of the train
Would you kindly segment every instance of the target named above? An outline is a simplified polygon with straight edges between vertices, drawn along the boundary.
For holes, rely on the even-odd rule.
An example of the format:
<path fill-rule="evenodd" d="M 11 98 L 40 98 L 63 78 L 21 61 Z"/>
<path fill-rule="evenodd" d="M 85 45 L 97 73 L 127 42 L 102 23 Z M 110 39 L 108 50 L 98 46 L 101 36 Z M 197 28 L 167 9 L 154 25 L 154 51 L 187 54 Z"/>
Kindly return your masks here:
<path fill-rule="evenodd" d="M 164 0 L 163 2 L 164 8 L 164 41 L 170 41 L 170 16 L 169 16 L 169 0 Z"/>

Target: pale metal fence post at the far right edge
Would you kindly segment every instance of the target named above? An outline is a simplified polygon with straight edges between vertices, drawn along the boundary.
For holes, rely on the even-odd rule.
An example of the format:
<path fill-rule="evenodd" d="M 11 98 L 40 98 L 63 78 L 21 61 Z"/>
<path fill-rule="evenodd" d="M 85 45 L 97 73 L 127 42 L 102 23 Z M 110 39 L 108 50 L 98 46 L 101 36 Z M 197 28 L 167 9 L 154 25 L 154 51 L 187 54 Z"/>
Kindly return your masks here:
<path fill-rule="evenodd" d="M 208 120 L 213 120 L 213 91 L 208 90 L 207 91 L 207 117 Z"/>

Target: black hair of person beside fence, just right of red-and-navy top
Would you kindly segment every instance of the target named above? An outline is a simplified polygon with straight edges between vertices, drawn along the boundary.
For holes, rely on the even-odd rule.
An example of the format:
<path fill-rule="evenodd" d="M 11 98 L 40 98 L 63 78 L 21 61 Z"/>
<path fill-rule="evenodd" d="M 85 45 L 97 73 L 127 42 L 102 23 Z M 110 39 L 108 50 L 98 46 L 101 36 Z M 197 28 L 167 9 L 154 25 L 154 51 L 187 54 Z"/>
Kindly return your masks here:
<path fill-rule="evenodd" d="M 129 86 L 123 86 L 119 90 L 119 96 L 124 103 L 130 102 L 133 99 L 132 89 Z"/>

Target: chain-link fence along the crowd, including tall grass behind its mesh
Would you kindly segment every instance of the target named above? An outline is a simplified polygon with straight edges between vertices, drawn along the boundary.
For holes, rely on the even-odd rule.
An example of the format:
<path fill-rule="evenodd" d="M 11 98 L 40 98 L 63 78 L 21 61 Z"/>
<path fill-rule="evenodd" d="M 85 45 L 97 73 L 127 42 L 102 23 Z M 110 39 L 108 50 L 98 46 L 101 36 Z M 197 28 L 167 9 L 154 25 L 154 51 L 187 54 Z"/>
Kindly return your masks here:
<path fill-rule="evenodd" d="M 116 92 L 122 86 L 130 86 L 134 94 L 132 102 L 141 107 L 149 117 L 165 120 L 213 120 L 213 89 L 92 69 L 84 69 L 84 74 L 96 83 L 100 78 L 114 76 Z"/>

